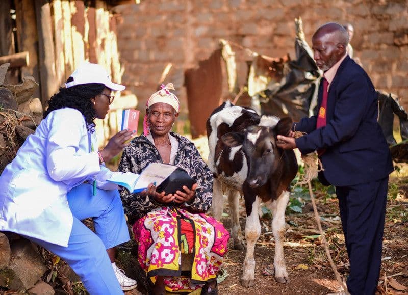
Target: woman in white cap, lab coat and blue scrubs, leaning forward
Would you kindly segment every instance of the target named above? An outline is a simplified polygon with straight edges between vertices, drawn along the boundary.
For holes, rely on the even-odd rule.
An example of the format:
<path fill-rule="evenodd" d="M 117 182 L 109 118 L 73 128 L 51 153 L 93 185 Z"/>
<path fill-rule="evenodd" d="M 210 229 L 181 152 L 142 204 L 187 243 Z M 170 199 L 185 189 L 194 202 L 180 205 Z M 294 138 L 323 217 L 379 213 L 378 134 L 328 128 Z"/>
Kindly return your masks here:
<path fill-rule="evenodd" d="M 0 230 L 18 233 L 63 258 L 91 294 L 136 287 L 114 263 L 130 239 L 118 187 L 104 165 L 127 145 L 123 130 L 97 150 L 95 118 L 104 119 L 123 85 L 85 63 L 48 101 L 44 119 L 0 176 Z M 95 233 L 81 220 L 92 217 Z"/>

